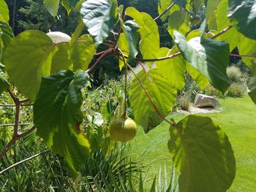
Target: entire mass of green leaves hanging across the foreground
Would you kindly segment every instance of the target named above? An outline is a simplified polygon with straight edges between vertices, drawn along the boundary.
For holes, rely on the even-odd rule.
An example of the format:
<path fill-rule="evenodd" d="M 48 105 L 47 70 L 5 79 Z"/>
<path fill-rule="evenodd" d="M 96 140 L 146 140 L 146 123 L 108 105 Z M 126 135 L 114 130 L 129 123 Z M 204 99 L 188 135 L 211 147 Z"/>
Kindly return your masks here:
<path fill-rule="evenodd" d="M 91 151 L 91 143 L 80 128 L 81 89 L 89 85 L 88 73 L 94 66 L 112 54 L 119 59 L 120 69 L 129 68 L 135 74 L 129 88 L 135 122 L 146 132 L 162 120 L 170 123 L 168 147 L 181 172 L 180 190 L 226 191 L 236 172 L 226 134 L 209 118 L 189 115 L 175 123 L 165 117 L 173 109 L 177 92 L 184 87 L 185 72 L 200 88 L 211 82 L 222 93 L 227 91 L 230 80 L 226 69 L 234 47 L 238 47 L 244 62 L 252 68 L 249 96 L 256 103 L 256 1 L 218 0 L 205 4 L 205 1 L 161 0 L 159 15 L 163 14 L 163 20 L 168 19 L 168 32 L 176 42 L 171 49 L 160 47 L 155 20 L 134 7 L 124 10 L 116 0 L 61 3 L 67 12 L 79 9 L 81 19 L 72 39 L 57 44 L 40 31 L 24 31 L 10 42 L 13 36 L 7 24 L 8 12 L 0 10 L 4 26 L 1 27 L 1 58 L 4 58 L 1 91 L 12 82 L 34 101 L 37 135 L 54 153 L 64 156 L 72 173 L 77 174 Z M 0 4 L 5 7 L 3 0 Z M 59 1 L 45 0 L 44 4 L 55 16 Z M 189 17 L 205 6 L 206 20 L 200 29 L 192 31 L 195 20 Z M 89 34 L 80 37 L 85 27 Z M 113 31 L 115 28 L 119 28 L 117 33 Z M 110 33 L 116 42 L 108 41 Z M 108 50 L 97 53 L 99 58 L 88 69 L 102 43 L 109 45 Z M 130 61 L 138 61 L 141 70 L 135 72 L 129 66 Z"/>

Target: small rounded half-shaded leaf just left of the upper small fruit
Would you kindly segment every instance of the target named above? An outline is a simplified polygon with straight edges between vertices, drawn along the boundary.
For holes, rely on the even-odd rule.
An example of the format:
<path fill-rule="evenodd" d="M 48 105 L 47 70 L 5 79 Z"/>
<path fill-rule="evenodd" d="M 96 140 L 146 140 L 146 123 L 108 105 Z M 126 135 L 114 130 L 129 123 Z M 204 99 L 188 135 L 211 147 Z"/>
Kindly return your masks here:
<path fill-rule="evenodd" d="M 184 35 L 190 31 L 189 15 L 183 9 L 173 12 L 168 19 L 168 32 L 173 39 L 175 30 Z"/>

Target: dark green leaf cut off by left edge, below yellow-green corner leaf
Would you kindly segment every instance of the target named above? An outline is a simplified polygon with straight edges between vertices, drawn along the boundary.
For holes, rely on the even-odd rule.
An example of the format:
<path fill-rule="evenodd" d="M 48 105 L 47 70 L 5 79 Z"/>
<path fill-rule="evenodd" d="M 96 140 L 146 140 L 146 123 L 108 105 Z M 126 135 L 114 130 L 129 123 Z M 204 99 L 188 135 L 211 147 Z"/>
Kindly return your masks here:
<path fill-rule="evenodd" d="M 9 45 L 13 37 L 12 28 L 0 20 L 0 40 L 3 42 L 4 48 Z"/>

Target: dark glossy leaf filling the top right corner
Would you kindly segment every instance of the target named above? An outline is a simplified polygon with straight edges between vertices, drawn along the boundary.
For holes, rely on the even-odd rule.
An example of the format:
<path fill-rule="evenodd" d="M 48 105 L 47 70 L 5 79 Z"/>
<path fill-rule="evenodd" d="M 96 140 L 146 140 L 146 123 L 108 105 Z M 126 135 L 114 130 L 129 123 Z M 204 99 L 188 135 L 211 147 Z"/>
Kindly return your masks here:
<path fill-rule="evenodd" d="M 228 17 L 236 29 L 250 39 L 256 39 L 256 1 L 229 0 Z"/>

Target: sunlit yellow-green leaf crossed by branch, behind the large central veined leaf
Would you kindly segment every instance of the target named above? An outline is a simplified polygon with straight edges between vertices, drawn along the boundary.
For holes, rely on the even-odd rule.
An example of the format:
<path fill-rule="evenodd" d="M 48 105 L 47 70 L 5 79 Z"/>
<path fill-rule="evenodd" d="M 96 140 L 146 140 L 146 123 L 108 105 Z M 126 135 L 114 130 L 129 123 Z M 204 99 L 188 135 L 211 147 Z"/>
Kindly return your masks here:
<path fill-rule="evenodd" d="M 161 47 L 158 57 L 161 58 L 173 55 L 177 52 L 177 47 L 173 47 L 171 50 L 166 47 Z M 165 77 L 173 87 L 182 90 L 185 85 L 186 61 L 184 61 L 184 58 L 181 55 L 164 61 L 157 61 L 157 69 L 162 74 L 162 77 Z"/>

